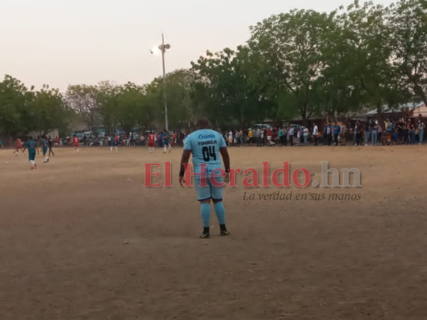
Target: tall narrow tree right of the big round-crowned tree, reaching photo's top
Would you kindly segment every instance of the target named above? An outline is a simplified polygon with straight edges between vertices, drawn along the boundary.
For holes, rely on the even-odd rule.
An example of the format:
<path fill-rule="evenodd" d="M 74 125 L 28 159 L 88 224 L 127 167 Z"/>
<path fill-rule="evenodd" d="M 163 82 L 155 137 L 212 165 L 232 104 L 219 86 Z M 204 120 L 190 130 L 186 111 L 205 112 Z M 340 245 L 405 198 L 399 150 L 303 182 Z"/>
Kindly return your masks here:
<path fill-rule="evenodd" d="M 344 41 L 351 46 L 348 57 L 350 79 L 360 87 L 359 102 L 372 105 L 381 113 L 384 104 L 398 104 L 406 100 L 406 92 L 399 75 L 391 64 L 389 41 L 391 31 L 386 23 L 388 9 L 371 2 L 359 5 L 358 1 L 339 16 Z"/>

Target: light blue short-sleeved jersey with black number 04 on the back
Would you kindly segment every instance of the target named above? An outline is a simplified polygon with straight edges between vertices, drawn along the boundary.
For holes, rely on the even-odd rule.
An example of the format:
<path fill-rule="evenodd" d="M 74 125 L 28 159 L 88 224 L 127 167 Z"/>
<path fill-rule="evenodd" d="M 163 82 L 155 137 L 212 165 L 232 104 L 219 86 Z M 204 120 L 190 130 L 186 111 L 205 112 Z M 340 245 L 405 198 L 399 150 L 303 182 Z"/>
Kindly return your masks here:
<path fill-rule="evenodd" d="M 200 165 L 206 164 L 206 169 L 222 168 L 219 149 L 226 148 L 226 142 L 219 132 L 211 129 L 201 129 L 189 134 L 185 139 L 184 150 L 193 154 L 194 173 L 200 173 Z"/>

